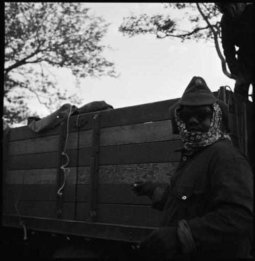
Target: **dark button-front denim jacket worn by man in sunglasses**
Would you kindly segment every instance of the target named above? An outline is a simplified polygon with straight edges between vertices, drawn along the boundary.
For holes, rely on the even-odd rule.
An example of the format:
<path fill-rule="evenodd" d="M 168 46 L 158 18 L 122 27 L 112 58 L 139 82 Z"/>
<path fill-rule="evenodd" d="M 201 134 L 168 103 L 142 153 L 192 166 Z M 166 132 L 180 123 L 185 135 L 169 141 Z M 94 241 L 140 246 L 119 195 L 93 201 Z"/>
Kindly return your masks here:
<path fill-rule="evenodd" d="M 152 195 L 151 206 L 163 211 L 161 226 L 178 227 L 183 257 L 251 257 L 253 174 L 248 159 L 226 140 L 181 152 L 170 185 Z"/>

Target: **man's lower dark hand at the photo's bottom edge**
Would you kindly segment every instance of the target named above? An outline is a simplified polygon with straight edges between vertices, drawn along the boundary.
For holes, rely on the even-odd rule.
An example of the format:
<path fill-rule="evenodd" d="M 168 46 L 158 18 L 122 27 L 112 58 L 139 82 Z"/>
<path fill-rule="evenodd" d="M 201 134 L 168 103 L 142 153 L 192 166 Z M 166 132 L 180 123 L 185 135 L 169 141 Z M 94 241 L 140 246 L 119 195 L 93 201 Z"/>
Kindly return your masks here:
<path fill-rule="evenodd" d="M 177 234 L 177 227 L 161 227 L 149 234 L 137 247 L 146 248 L 156 257 L 172 257 L 174 253 L 182 251 L 181 243 Z"/>

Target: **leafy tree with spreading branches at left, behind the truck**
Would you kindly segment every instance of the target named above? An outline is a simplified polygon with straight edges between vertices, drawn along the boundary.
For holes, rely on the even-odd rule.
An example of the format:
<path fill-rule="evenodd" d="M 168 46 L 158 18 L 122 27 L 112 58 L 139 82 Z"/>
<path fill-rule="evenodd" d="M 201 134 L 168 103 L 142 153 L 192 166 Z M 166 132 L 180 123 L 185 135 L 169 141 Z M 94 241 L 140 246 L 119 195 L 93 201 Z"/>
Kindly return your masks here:
<path fill-rule="evenodd" d="M 5 3 L 4 124 L 24 121 L 29 100 L 37 97 L 49 112 L 64 101 L 81 103 L 58 87 L 54 68 L 67 68 L 79 79 L 116 77 L 100 44 L 109 23 L 82 3 Z M 36 115 L 33 112 L 33 115 Z"/>

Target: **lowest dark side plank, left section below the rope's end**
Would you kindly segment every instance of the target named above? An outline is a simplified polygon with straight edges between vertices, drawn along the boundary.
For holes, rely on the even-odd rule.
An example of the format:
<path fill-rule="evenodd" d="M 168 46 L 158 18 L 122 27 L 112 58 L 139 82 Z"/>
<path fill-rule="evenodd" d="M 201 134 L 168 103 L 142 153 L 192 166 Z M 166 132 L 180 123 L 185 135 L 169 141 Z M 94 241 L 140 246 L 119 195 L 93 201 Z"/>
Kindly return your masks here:
<path fill-rule="evenodd" d="M 3 200 L 3 214 L 18 215 L 15 209 L 16 200 Z M 53 218 L 55 214 L 54 201 L 19 200 L 19 214 L 22 216 Z M 74 219 L 74 203 L 63 202 L 63 219 Z"/>

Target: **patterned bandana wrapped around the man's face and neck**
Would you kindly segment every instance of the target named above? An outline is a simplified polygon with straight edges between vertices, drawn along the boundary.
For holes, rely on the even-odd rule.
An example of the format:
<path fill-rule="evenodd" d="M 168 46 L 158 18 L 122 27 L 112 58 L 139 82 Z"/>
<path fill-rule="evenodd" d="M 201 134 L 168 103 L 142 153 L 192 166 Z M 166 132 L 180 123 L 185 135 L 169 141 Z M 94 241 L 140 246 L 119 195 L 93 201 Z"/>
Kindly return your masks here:
<path fill-rule="evenodd" d="M 227 139 L 231 141 L 230 136 L 220 129 L 220 122 L 222 118 L 222 112 L 217 102 L 213 103 L 213 116 L 210 124 L 210 128 L 207 132 L 188 132 L 185 123 L 179 118 L 176 113 L 181 108 L 181 105 L 177 106 L 174 111 L 175 120 L 179 129 L 180 135 L 184 147 L 187 150 L 194 150 L 200 147 L 211 145 L 219 139 Z"/>

